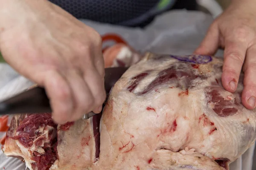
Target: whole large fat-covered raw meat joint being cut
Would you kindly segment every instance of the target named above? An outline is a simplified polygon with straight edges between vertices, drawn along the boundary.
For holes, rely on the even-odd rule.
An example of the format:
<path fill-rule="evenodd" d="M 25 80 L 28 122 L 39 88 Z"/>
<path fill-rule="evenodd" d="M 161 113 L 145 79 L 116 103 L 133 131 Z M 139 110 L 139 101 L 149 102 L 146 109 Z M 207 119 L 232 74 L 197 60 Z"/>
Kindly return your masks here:
<path fill-rule="evenodd" d="M 27 150 L 44 149 L 30 147 L 36 137 L 28 147 L 16 137 L 29 116 L 14 117 L 3 150 L 33 170 L 228 170 L 255 142 L 256 110 L 241 103 L 243 74 L 235 93 L 224 90 L 222 65 L 148 53 L 116 82 L 102 116 L 58 125 L 55 138 L 47 131 L 55 126 L 42 124 L 56 154 L 47 166 L 32 167 Z"/>

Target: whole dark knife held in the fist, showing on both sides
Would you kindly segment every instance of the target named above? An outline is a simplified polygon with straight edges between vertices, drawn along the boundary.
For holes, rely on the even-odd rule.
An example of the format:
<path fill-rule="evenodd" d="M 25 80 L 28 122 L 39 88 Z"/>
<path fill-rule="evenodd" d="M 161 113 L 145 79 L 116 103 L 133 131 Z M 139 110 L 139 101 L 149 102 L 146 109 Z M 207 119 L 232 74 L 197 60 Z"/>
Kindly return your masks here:
<path fill-rule="evenodd" d="M 122 77 L 127 67 L 105 68 L 105 91 L 108 94 L 117 80 Z M 0 115 L 18 113 L 51 113 L 52 109 L 46 91 L 42 87 L 35 87 L 0 102 Z M 83 119 L 94 116 L 90 112 L 84 114 Z"/>

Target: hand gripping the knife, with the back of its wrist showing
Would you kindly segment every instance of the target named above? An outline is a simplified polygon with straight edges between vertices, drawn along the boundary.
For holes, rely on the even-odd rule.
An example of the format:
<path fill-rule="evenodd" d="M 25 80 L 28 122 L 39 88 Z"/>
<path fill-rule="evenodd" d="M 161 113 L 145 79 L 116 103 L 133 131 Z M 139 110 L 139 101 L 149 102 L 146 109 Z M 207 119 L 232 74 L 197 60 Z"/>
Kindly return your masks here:
<path fill-rule="evenodd" d="M 100 35 L 46 0 L 0 0 L 0 51 L 44 86 L 57 123 L 99 113 L 106 98 Z"/>

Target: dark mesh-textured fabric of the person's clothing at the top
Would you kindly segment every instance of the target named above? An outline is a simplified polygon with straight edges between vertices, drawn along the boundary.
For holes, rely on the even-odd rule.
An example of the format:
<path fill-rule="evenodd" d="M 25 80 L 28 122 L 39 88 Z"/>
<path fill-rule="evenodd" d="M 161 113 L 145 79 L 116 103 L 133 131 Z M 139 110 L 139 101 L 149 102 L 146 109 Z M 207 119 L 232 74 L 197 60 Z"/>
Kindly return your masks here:
<path fill-rule="evenodd" d="M 102 23 L 131 20 L 154 8 L 159 0 L 50 0 L 76 18 Z"/>

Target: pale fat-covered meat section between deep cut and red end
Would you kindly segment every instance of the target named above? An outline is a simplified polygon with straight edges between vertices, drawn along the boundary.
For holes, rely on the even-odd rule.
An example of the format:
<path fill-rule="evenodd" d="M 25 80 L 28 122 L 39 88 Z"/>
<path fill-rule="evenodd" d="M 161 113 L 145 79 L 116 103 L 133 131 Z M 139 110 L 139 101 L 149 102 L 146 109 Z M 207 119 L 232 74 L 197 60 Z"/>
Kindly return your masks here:
<path fill-rule="evenodd" d="M 90 167 L 96 161 L 92 119 L 58 125 L 57 150 L 58 168 Z"/>

